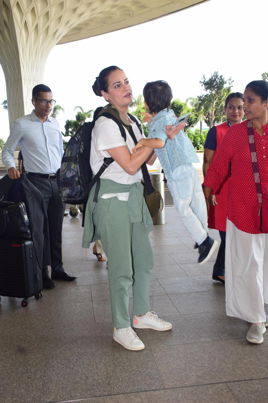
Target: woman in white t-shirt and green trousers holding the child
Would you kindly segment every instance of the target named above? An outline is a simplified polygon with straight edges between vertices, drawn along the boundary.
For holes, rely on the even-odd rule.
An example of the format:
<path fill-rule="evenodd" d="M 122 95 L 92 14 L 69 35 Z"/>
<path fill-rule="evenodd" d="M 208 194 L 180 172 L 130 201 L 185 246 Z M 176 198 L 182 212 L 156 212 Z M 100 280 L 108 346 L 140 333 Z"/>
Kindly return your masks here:
<path fill-rule="evenodd" d="M 117 66 L 102 70 L 93 91 L 119 112 L 123 124 L 132 126 L 137 140 L 142 138 L 136 123 L 128 117 L 132 89 L 124 71 Z M 180 129 L 167 127 L 167 133 L 173 138 Z M 101 175 L 97 203 L 93 201 L 95 186 L 89 195 L 82 246 L 87 248 L 94 239 L 101 238 L 109 261 L 113 339 L 126 349 L 142 350 L 144 344 L 130 327 L 128 289 L 131 286 L 134 328 L 169 330 L 172 325 L 150 311 L 149 304 L 154 258 L 148 233 L 153 230 L 153 223 L 143 197 L 140 166 L 144 162 L 153 164 L 156 155 L 148 147 L 131 154 L 133 147 L 128 130 L 125 142 L 113 120 L 99 117 L 91 140 L 93 174 L 103 165 L 103 158 L 112 157 L 114 162 Z"/>

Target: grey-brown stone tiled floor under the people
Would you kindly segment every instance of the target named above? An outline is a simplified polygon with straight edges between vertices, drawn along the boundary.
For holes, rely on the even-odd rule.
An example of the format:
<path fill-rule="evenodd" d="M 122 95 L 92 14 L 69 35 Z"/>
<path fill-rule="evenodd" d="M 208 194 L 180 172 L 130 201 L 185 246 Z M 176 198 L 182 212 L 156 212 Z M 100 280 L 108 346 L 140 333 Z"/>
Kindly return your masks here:
<path fill-rule="evenodd" d="M 225 315 L 224 286 L 211 278 L 215 254 L 200 268 L 175 208 L 166 221 L 150 234 L 150 303 L 172 330 L 138 331 L 138 352 L 113 341 L 106 262 L 81 248 L 81 214 L 67 216 L 64 267 L 78 279 L 27 308 L 2 297 L 1 403 L 267 403 L 268 336 L 247 343 L 249 324 Z"/>

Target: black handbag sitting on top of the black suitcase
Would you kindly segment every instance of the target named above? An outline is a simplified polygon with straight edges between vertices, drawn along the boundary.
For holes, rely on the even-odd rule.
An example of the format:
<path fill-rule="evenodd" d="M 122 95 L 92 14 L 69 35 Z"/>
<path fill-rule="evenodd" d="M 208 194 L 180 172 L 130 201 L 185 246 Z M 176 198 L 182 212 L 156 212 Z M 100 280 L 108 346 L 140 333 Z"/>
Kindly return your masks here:
<path fill-rule="evenodd" d="M 31 238 L 29 218 L 23 202 L 0 201 L 0 237 Z"/>

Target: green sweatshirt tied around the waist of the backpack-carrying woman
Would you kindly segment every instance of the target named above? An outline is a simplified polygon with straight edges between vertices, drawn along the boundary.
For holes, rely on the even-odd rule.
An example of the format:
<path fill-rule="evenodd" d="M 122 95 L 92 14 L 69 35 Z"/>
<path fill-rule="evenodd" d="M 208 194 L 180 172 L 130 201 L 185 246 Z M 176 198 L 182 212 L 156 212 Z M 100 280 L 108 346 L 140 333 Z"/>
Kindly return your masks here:
<path fill-rule="evenodd" d="M 101 179 L 100 181 L 101 187 L 99 189 L 98 199 L 106 193 L 129 192 L 128 201 L 126 203 L 128 203 L 130 222 L 143 222 L 147 233 L 153 231 L 153 220 L 145 203 L 142 183 L 136 182 L 132 185 L 123 185 L 122 183 L 111 181 L 110 179 Z M 85 212 L 84 234 L 82 240 L 83 248 L 89 248 L 91 242 L 95 241 L 95 239 L 99 239 L 93 222 L 93 213 L 97 206 L 97 203 L 93 201 L 95 187 L 96 185 L 93 186 L 89 193 Z"/>

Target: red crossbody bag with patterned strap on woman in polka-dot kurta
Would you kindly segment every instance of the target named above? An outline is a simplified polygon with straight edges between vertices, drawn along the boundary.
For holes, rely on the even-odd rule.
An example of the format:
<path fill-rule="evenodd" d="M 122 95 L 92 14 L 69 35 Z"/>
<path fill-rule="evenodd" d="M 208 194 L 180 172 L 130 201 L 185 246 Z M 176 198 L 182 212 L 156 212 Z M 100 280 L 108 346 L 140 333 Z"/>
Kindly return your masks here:
<path fill-rule="evenodd" d="M 256 225 L 256 228 L 260 232 L 268 234 L 268 195 L 264 195 L 262 193 L 262 185 L 260 182 L 260 171 L 257 159 L 254 130 L 251 120 L 247 120 L 247 135 L 248 135 L 253 177 L 258 196 L 258 203 L 256 204 L 253 212 L 254 223 Z"/>

